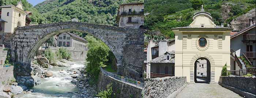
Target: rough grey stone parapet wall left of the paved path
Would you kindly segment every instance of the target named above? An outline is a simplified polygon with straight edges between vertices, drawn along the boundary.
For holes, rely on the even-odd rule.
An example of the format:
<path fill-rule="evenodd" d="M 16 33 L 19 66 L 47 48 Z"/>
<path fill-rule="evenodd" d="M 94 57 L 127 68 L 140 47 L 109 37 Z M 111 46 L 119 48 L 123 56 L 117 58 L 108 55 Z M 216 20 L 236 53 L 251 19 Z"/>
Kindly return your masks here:
<path fill-rule="evenodd" d="M 175 98 L 187 85 L 186 77 L 144 79 L 144 98 Z"/>

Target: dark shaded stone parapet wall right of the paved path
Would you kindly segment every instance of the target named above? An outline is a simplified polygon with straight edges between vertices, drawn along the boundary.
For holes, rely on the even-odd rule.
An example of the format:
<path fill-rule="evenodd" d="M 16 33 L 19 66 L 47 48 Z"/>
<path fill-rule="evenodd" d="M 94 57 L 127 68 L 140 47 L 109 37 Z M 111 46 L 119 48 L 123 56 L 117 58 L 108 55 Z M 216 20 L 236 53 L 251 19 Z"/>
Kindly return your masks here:
<path fill-rule="evenodd" d="M 243 76 L 221 76 L 219 84 L 238 94 L 248 97 L 247 93 L 256 94 L 256 78 Z M 251 96 L 251 95 L 249 95 Z M 251 98 L 251 97 L 248 97 Z"/>

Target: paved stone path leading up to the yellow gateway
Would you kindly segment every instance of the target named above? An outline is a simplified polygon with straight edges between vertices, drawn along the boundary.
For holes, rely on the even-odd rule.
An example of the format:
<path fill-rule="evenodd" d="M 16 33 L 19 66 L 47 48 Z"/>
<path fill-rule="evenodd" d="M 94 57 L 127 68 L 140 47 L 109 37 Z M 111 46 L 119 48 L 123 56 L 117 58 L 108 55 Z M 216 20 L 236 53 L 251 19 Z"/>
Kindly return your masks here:
<path fill-rule="evenodd" d="M 176 98 L 243 98 L 219 84 L 191 83 Z"/>

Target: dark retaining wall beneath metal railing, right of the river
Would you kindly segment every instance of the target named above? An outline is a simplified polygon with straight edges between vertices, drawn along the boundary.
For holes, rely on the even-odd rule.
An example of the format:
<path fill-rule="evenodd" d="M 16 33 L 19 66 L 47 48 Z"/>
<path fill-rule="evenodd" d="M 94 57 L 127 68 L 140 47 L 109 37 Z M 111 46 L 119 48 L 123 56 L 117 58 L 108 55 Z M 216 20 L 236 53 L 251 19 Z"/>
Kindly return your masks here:
<path fill-rule="evenodd" d="M 99 81 L 97 84 L 97 90 L 102 91 L 106 90 L 106 86 L 112 83 L 112 90 L 115 93 L 112 98 L 141 98 L 142 89 L 128 85 L 124 82 L 117 81 L 109 76 L 106 76 L 100 72 Z"/>

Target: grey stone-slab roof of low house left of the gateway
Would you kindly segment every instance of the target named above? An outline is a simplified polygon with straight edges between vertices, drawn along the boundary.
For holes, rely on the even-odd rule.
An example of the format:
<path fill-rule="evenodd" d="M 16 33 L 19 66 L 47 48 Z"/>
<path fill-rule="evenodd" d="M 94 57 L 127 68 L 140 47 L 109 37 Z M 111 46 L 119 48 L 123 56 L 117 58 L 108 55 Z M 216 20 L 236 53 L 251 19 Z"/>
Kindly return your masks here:
<path fill-rule="evenodd" d="M 154 58 L 148 63 L 175 63 L 175 57 L 172 57 L 170 60 L 166 60 L 166 55 L 163 54 L 162 56 Z"/>

